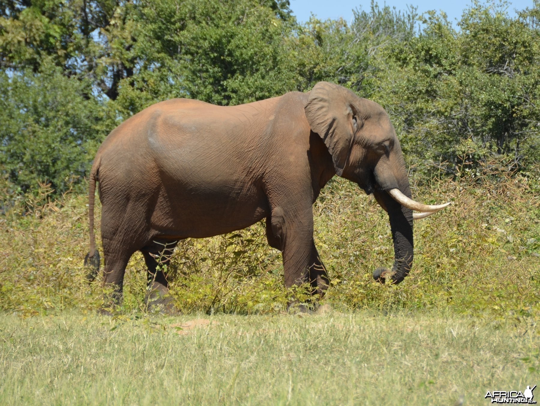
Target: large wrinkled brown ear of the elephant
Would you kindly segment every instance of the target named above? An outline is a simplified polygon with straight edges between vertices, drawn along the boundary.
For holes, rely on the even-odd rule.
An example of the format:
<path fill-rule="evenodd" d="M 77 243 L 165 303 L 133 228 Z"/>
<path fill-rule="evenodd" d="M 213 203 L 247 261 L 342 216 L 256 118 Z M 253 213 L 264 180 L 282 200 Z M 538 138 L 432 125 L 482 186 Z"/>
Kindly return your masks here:
<path fill-rule="evenodd" d="M 319 134 L 332 155 L 338 176 L 347 164 L 354 137 L 354 107 L 348 93 L 352 92 L 344 87 L 319 82 L 309 92 L 304 107 L 312 131 Z"/>

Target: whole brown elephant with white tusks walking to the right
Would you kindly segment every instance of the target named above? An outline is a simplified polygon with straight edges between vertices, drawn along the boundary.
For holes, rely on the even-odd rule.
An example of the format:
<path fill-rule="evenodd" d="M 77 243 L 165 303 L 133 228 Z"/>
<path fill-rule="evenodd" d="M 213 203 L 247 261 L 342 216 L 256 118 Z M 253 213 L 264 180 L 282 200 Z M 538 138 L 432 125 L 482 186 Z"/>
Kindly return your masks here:
<path fill-rule="evenodd" d="M 379 104 L 328 82 L 238 106 L 161 101 L 125 120 L 96 153 L 85 258 L 90 279 L 99 270 L 93 233 L 98 182 L 103 283 L 116 289 L 118 300 L 136 251 L 148 268 L 150 299 L 161 300 L 168 283 L 159 264 L 178 241 L 262 219 L 268 244 L 281 251 L 285 286 L 307 282 L 322 296 L 329 279 L 313 239 L 313 204 L 334 175 L 373 194 L 388 213 L 395 260 L 392 269 L 373 275 L 400 283 L 413 262 L 413 219 L 450 203 L 411 199 L 400 142 Z"/>

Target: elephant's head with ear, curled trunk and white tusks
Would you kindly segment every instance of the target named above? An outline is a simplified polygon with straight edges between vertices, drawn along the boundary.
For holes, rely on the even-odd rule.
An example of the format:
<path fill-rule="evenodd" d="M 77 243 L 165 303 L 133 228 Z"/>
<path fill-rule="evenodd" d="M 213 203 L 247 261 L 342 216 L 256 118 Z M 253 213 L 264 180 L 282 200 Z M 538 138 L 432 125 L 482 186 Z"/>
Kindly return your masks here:
<path fill-rule="evenodd" d="M 314 133 L 326 144 L 336 174 L 373 193 L 388 212 L 394 241 L 392 271 L 377 268 L 375 280 L 400 283 L 413 262 L 413 219 L 448 206 L 423 205 L 411 199 L 407 168 L 400 142 L 388 114 L 374 101 L 362 99 L 345 87 L 319 82 L 305 105 Z M 420 213 L 413 214 L 413 210 Z"/>

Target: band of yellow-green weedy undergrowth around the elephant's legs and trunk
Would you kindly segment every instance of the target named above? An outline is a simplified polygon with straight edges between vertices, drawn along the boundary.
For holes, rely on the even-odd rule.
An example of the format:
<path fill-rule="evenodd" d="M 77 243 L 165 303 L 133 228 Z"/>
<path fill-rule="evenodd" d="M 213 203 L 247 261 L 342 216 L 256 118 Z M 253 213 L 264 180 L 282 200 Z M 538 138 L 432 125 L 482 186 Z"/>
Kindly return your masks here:
<path fill-rule="evenodd" d="M 315 240 L 332 280 L 323 302 L 338 309 L 431 309 L 537 320 L 540 292 L 539 178 L 463 171 L 457 180 L 418 186 L 416 199 L 453 205 L 415 223 L 413 271 L 399 286 L 379 285 L 373 270 L 393 261 L 386 213 L 374 199 L 334 179 L 314 206 Z M 479 176 L 480 175 L 480 176 Z M 40 194 L 45 199 L 46 191 Z M 86 198 L 35 201 L 35 211 L 3 219 L 1 307 L 23 313 L 102 306 L 98 282 L 85 280 Z M 99 213 L 99 209 L 97 210 Z M 99 246 L 99 245 L 98 245 Z M 292 294 L 281 255 L 259 223 L 237 233 L 182 242 L 168 268 L 171 294 L 183 312 L 280 312 Z M 126 310 L 145 310 L 146 269 L 132 257 L 124 285 Z"/>

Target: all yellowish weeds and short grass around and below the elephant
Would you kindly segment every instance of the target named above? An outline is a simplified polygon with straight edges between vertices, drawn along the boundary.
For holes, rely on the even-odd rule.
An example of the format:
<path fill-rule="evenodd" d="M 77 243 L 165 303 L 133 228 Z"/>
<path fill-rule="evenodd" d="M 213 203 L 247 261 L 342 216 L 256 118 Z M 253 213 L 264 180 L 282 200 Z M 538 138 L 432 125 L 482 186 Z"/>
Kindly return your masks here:
<path fill-rule="evenodd" d="M 82 267 L 86 197 L 44 204 L 44 188 L 1 219 L 0 403 L 483 404 L 487 390 L 523 390 L 540 371 L 538 184 L 413 184 L 417 200 L 454 204 L 416 223 L 413 272 L 381 286 L 386 214 L 333 181 L 314 213 L 334 310 L 301 318 L 281 314 L 291 292 L 261 224 L 177 249 L 171 292 L 185 316 L 145 313 L 139 255 L 123 311 L 98 316 L 102 290 Z"/>

